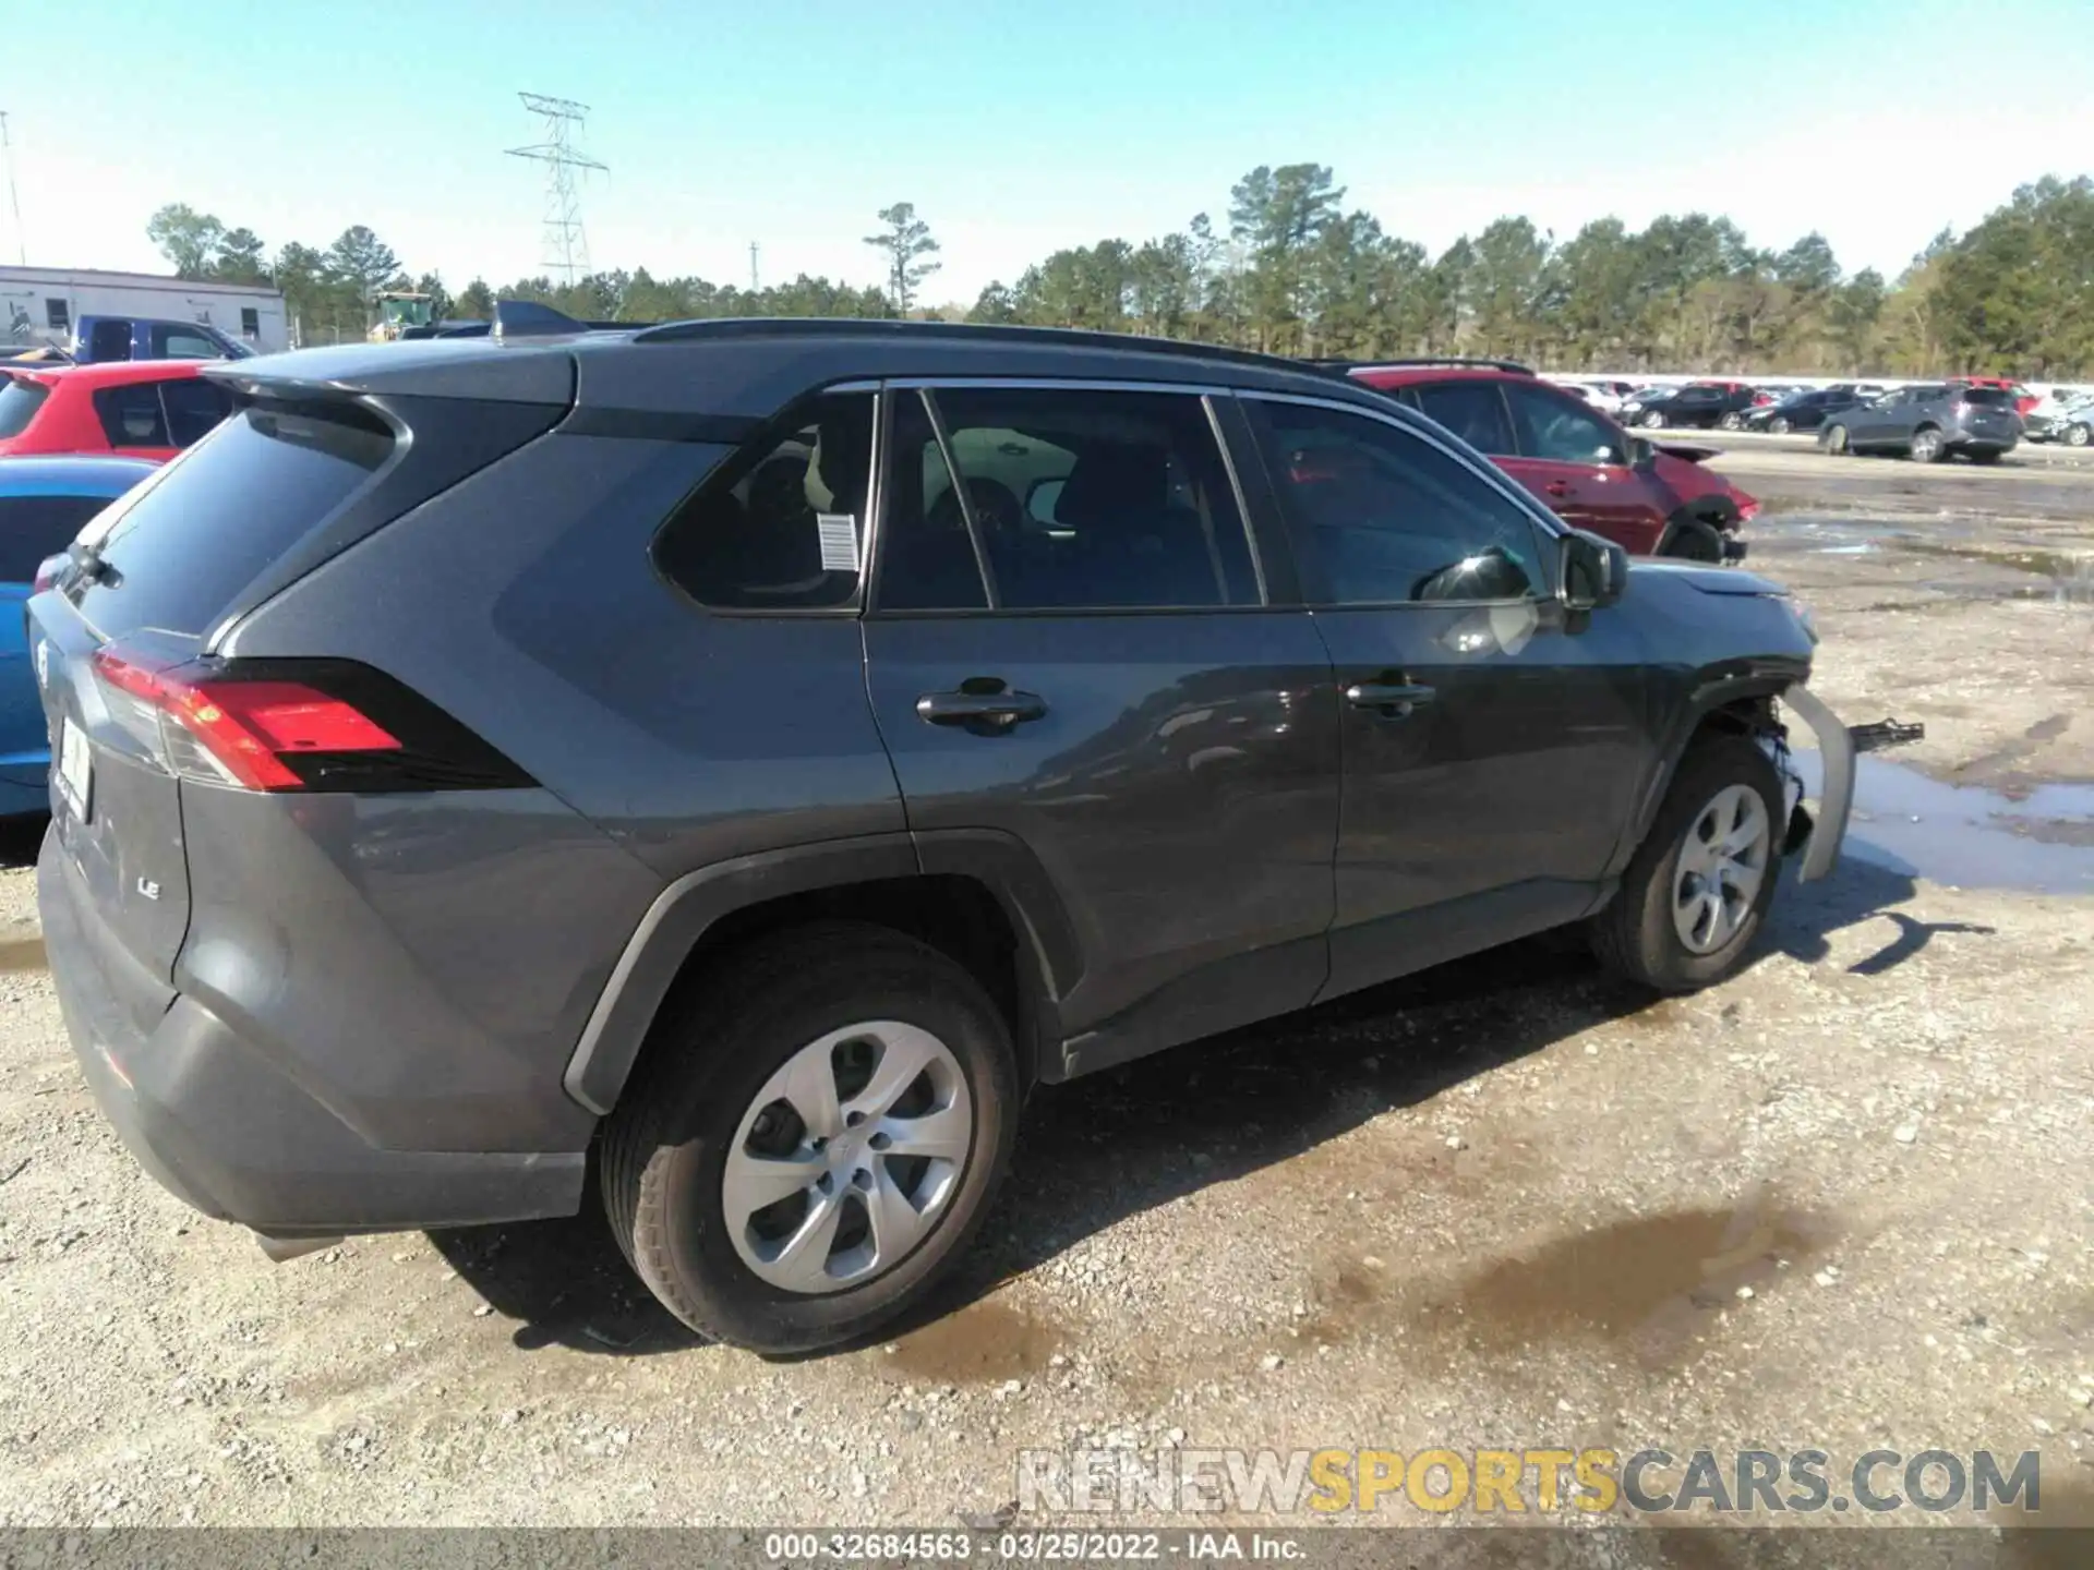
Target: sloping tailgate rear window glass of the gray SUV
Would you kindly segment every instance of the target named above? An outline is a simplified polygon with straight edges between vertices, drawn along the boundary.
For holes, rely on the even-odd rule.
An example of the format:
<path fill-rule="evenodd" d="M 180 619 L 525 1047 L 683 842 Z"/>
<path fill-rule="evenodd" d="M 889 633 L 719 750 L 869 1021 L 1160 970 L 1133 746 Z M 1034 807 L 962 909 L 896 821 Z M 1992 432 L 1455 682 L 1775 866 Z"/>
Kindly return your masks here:
<path fill-rule="evenodd" d="M 392 450 L 392 429 L 362 410 L 243 408 L 96 519 L 94 544 L 113 571 L 71 590 L 82 615 L 105 636 L 207 632 L 264 567 L 356 496 Z"/>

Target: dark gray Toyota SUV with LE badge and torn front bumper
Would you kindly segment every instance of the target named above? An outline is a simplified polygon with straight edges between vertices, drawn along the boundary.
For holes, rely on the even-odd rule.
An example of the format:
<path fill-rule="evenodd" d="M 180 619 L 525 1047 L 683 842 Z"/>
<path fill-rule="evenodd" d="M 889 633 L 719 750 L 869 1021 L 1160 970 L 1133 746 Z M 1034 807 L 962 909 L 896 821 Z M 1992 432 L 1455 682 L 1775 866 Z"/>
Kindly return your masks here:
<path fill-rule="evenodd" d="M 1782 590 L 1631 569 L 1372 389 L 532 324 L 214 366 L 29 603 L 80 1061 L 276 1256 L 574 1214 L 595 1156 L 676 1317 L 842 1342 L 1039 1082 L 1564 923 L 1705 986 L 1832 865 Z"/>

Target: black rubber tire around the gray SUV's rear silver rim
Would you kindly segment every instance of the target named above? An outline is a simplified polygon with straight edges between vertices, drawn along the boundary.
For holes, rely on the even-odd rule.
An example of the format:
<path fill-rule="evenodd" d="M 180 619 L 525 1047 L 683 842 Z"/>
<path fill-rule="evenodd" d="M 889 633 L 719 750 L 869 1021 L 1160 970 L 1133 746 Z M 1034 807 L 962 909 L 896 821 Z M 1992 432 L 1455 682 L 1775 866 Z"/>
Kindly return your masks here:
<path fill-rule="evenodd" d="M 921 1298 L 988 1212 L 1018 1137 L 1009 1030 L 982 986 L 888 927 L 825 921 L 737 948 L 655 1022 L 603 1135 L 603 1204 L 626 1260 L 676 1319 L 758 1352 L 865 1336 Z M 727 1235 L 727 1147 L 798 1049 L 861 1019 L 921 1026 L 959 1061 L 974 1139 L 953 1197 L 898 1264 L 861 1287 L 762 1281 Z"/>

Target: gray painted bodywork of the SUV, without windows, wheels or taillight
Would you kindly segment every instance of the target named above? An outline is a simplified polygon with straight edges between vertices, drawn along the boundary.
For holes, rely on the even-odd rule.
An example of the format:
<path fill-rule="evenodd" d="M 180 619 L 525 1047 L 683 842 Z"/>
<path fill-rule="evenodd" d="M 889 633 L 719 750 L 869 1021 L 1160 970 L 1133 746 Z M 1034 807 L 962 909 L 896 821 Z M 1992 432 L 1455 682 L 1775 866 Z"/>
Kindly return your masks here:
<path fill-rule="evenodd" d="M 354 396 L 408 427 L 492 410 L 486 450 L 448 469 L 425 454 L 425 496 L 297 542 L 207 647 L 383 672 L 530 781 L 266 795 L 155 779 L 92 714 L 92 628 L 61 597 L 31 605 L 59 647 L 52 703 L 88 722 L 119 808 L 61 816 L 40 873 L 82 1061 L 161 1181 L 281 1235 L 570 1212 L 693 946 L 773 900 L 986 892 L 1047 1080 L 1575 919 L 1608 896 L 1698 720 L 1809 670 L 1772 586 L 1725 569 L 1638 565 L 1596 613 L 1529 603 L 1516 649 L 1491 613 L 1497 647 L 1466 636 L 1474 605 L 1305 607 L 1227 394 L 1313 394 L 1447 438 L 1252 356 L 706 324 L 216 375 Z M 725 613 L 660 576 L 655 534 L 733 442 L 812 389 L 884 377 L 1219 391 L 1269 603 Z M 1457 456 L 1554 538 L 1522 490 Z M 1443 691 L 1426 724 L 1344 703 L 1388 668 Z M 970 678 L 1045 714 L 995 735 L 919 718 L 919 697 Z M 130 894 L 140 869 L 151 909 Z"/>

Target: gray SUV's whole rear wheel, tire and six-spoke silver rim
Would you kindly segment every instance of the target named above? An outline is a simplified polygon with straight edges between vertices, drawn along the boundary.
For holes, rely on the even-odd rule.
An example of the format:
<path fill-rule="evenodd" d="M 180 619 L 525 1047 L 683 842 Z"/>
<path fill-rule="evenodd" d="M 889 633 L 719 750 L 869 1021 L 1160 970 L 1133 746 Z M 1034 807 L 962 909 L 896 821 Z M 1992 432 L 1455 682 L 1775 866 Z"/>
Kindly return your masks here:
<path fill-rule="evenodd" d="M 691 1329 L 846 1342 L 959 1254 L 1016 1139 L 1009 1032 L 951 959 L 821 923 L 737 950 L 664 1017 L 603 1137 L 632 1269 Z"/>

